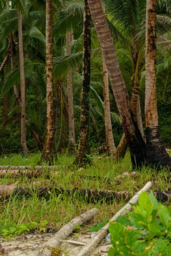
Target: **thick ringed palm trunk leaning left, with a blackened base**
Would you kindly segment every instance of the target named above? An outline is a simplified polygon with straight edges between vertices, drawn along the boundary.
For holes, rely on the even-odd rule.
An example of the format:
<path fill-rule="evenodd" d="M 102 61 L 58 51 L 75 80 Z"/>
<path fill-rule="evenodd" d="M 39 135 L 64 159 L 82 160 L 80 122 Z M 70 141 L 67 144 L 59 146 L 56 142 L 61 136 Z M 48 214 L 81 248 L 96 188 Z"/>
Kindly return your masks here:
<path fill-rule="evenodd" d="M 106 62 L 110 83 L 116 100 L 118 111 L 121 115 L 123 127 L 129 144 L 133 166 L 141 166 L 145 159 L 145 143 L 133 119 L 129 96 L 121 70 L 118 66 L 114 44 L 110 30 L 104 16 L 100 0 L 88 0 L 94 26 L 100 40 L 102 55 Z"/>

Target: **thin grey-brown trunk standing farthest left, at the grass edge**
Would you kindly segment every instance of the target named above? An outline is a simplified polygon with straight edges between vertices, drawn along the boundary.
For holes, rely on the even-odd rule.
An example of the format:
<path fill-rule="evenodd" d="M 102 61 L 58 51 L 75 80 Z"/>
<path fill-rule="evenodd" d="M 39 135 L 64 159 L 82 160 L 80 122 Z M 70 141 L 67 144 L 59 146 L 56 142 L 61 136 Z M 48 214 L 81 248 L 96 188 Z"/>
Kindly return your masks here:
<path fill-rule="evenodd" d="M 19 59 L 20 59 L 20 86 L 21 86 L 21 146 L 22 153 L 28 154 L 26 145 L 26 80 L 24 74 L 24 49 L 23 49 L 23 35 L 22 35 L 22 13 L 18 9 L 18 41 L 19 41 Z"/>

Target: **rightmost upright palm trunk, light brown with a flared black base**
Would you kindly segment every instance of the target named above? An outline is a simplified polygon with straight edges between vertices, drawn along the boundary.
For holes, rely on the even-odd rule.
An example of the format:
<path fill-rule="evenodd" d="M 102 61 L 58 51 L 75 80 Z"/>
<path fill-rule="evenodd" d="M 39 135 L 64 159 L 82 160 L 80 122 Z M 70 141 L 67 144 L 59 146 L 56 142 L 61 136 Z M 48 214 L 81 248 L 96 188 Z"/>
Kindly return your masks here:
<path fill-rule="evenodd" d="M 169 166 L 171 158 L 168 156 L 158 125 L 158 108 L 156 97 L 156 3 L 157 0 L 147 0 L 146 9 L 146 51 L 145 51 L 145 122 L 147 143 L 147 164 Z"/>

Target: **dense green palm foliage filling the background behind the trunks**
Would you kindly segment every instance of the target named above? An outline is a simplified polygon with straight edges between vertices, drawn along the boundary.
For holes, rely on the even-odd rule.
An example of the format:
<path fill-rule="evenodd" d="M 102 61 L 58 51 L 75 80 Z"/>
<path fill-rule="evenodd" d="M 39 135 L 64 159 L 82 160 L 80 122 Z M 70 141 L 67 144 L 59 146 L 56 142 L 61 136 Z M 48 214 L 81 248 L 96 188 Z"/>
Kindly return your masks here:
<path fill-rule="evenodd" d="M 139 83 L 139 98 L 143 127 L 145 129 L 145 1 L 125 0 L 121 1 L 120 4 L 112 3 L 110 0 L 104 0 L 103 2 L 105 4 L 109 28 L 114 38 L 118 62 L 130 98 L 135 80 L 137 79 Z M 131 14 L 128 11 L 129 6 L 133 9 Z M 81 0 L 53 1 L 53 106 L 55 117 L 55 150 L 57 153 L 67 151 L 71 142 L 69 139 L 69 109 L 71 108 L 69 104 L 71 102 L 69 103 L 67 100 L 69 96 L 69 71 L 73 86 L 74 139 L 76 145 L 79 140 L 83 72 L 83 7 L 83 1 Z M 21 67 L 19 65 L 20 47 L 18 44 L 20 34 L 18 30 L 17 10 L 22 13 L 22 40 L 26 77 L 26 144 L 29 152 L 42 150 L 46 137 L 45 2 L 36 0 L 1 0 L 1 154 L 23 152 L 20 142 L 22 87 L 20 84 Z M 157 12 L 158 113 L 162 140 L 166 147 L 170 147 L 170 1 L 158 1 Z M 106 143 L 104 135 L 106 113 L 104 113 L 105 99 L 103 92 L 102 54 L 93 22 L 91 26 L 92 50 L 89 129 L 90 147 L 92 150 L 97 150 L 103 143 Z M 70 35 L 69 41 L 67 41 L 68 36 L 66 34 Z M 70 44 L 67 50 L 66 44 Z M 133 44 L 135 44 L 134 50 Z M 139 58 L 141 58 L 139 59 L 139 65 L 137 65 L 139 69 L 138 73 L 136 73 L 137 71 L 135 72 L 134 64 L 136 63 L 134 63 L 135 61 L 133 59 L 134 54 L 136 55 L 137 53 Z M 109 98 L 112 133 L 114 143 L 117 146 L 123 135 L 122 119 L 119 117 L 110 84 Z M 108 153 L 110 154 L 110 152 Z"/>

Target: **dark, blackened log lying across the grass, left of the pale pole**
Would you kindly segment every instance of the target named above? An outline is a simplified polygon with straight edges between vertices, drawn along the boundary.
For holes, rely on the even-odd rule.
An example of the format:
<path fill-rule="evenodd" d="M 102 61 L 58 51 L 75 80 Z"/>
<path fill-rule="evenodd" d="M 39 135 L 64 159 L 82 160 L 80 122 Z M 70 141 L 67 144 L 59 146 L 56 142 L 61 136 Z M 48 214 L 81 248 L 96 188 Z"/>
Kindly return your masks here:
<path fill-rule="evenodd" d="M 48 197 L 51 193 L 55 195 L 63 194 L 67 196 L 82 197 L 86 201 L 96 202 L 104 201 L 110 203 L 112 201 L 121 199 L 129 199 L 133 193 L 129 191 L 110 191 L 110 190 L 96 190 L 96 189 L 63 189 L 60 187 L 54 187 L 48 185 L 47 187 L 35 187 L 34 185 L 30 187 L 18 187 L 16 185 L 1 185 L 0 186 L 0 197 L 7 199 L 11 195 L 17 195 L 18 197 L 32 197 L 33 193 L 36 193 L 38 197 Z"/>

